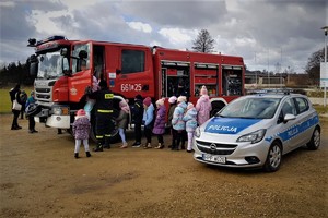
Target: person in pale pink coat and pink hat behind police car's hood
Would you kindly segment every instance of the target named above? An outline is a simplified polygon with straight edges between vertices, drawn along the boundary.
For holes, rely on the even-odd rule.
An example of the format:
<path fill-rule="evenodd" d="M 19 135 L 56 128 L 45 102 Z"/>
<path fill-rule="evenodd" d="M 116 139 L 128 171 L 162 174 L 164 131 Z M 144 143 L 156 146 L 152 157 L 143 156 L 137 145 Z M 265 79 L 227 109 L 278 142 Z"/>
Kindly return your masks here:
<path fill-rule="evenodd" d="M 197 100 L 195 107 L 197 110 L 197 122 L 199 125 L 210 119 L 210 112 L 212 110 L 210 97 L 208 96 L 208 89 L 204 85 L 200 89 L 200 95 L 201 96 Z"/>

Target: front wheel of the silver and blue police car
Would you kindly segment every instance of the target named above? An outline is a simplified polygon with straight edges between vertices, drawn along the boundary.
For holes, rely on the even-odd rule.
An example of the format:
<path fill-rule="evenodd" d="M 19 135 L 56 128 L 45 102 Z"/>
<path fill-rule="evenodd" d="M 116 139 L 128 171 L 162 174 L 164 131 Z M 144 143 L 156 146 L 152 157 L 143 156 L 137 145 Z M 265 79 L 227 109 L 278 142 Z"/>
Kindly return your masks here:
<path fill-rule="evenodd" d="M 267 172 L 276 172 L 280 168 L 281 160 L 282 160 L 281 144 L 279 142 L 274 141 L 269 148 L 263 169 Z"/>

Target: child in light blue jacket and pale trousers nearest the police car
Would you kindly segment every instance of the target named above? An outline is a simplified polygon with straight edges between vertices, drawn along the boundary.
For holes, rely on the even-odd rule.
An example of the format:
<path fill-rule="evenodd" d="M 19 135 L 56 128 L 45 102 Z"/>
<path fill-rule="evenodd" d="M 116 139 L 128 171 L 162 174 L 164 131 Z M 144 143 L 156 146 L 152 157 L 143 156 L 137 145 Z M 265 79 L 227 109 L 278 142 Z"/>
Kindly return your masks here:
<path fill-rule="evenodd" d="M 186 131 L 187 131 L 187 134 L 188 134 L 187 152 L 191 153 L 194 133 L 195 133 L 195 130 L 197 128 L 197 110 L 194 107 L 192 102 L 188 102 L 187 112 L 184 116 L 184 121 L 186 122 Z"/>

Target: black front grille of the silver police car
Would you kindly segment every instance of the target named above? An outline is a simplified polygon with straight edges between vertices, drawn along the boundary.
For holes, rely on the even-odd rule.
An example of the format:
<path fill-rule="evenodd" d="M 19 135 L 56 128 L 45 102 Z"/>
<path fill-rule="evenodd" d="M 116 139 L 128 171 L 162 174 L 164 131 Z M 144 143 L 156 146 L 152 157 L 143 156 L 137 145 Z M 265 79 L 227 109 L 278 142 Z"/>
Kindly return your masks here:
<path fill-rule="evenodd" d="M 207 154 L 212 155 L 231 155 L 237 147 L 235 144 L 220 144 L 196 141 L 197 148 Z"/>

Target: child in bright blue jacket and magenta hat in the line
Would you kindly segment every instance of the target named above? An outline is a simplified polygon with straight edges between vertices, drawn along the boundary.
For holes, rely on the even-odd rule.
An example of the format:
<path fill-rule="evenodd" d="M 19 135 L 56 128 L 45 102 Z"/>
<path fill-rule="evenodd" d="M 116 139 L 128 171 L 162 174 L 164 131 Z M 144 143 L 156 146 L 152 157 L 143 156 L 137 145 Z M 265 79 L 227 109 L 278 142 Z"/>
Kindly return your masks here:
<path fill-rule="evenodd" d="M 143 118 L 144 122 L 144 136 L 147 138 L 147 143 L 144 144 L 144 148 L 152 148 L 152 129 L 154 124 L 154 106 L 152 104 L 152 99 L 150 97 L 144 98 L 143 100 Z"/>

